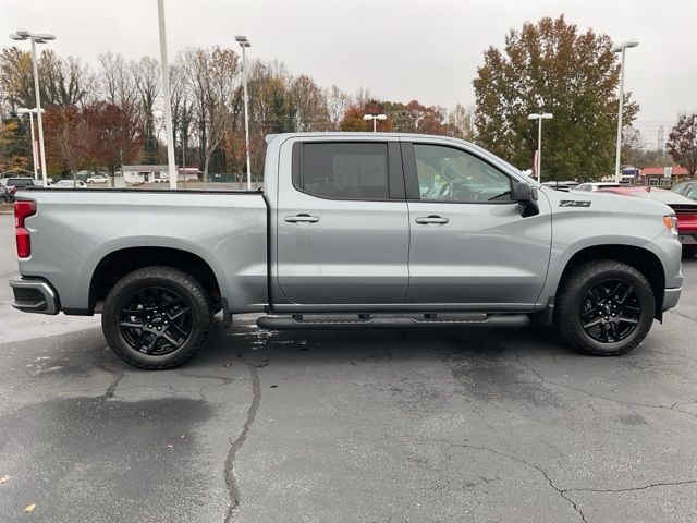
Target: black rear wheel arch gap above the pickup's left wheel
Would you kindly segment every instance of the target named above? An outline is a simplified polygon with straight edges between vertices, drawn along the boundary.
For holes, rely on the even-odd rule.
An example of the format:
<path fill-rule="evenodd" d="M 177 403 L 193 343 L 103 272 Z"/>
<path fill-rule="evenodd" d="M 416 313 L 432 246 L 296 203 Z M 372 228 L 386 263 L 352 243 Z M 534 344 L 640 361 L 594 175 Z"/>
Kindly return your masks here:
<path fill-rule="evenodd" d="M 89 283 L 89 312 L 103 301 L 125 276 L 144 267 L 171 267 L 200 282 L 213 306 L 222 306 L 221 287 L 216 272 L 200 256 L 181 248 L 140 246 L 113 251 L 101 258 Z"/>

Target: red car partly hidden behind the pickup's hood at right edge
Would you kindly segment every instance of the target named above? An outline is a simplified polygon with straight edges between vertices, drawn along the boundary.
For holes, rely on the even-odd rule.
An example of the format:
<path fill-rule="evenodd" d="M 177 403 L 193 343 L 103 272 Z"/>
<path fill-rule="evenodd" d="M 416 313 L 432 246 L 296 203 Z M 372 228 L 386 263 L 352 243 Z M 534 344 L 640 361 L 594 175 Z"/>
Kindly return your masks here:
<path fill-rule="evenodd" d="M 608 187 L 602 193 L 623 194 L 638 198 L 655 199 L 668 205 L 677 217 L 677 234 L 680 243 L 687 255 L 697 254 L 697 202 L 664 188 L 649 186 Z"/>

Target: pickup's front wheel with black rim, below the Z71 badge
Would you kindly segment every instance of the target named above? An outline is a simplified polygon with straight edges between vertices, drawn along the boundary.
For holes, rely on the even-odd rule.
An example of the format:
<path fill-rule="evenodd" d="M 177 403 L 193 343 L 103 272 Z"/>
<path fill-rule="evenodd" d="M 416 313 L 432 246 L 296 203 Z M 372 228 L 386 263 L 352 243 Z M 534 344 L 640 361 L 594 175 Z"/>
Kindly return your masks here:
<path fill-rule="evenodd" d="M 561 337 L 579 352 L 617 356 L 637 346 L 653 323 L 648 280 L 622 262 L 590 262 L 562 282 L 557 299 Z"/>

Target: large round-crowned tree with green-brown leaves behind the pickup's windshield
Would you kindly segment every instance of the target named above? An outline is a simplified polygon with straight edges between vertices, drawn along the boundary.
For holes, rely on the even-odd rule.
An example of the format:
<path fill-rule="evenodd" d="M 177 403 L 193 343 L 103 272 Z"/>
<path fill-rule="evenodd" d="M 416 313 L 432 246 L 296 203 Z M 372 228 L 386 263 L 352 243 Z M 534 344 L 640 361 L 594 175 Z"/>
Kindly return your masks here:
<path fill-rule="evenodd" d="M 612 172 L 620 65 L 607 35 L 579 33 L 563 16 L 512 29 L 503 50 L 490 47 L 474 80 L 475 126 L 482 146 L 527 168 L 537 148 L 534 112 L 551 112 L 542 129 L 547 180 L 598 179 Z M 624 124 L 638 106 L 625 95 Z"/>

